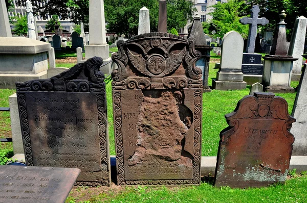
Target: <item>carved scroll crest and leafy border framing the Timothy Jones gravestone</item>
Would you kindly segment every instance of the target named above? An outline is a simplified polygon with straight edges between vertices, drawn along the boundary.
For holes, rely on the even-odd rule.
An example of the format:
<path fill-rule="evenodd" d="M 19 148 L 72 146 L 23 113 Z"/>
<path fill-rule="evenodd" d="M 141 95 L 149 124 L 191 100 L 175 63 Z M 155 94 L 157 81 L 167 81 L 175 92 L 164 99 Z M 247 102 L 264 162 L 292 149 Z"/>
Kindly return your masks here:
<path fill-rule="evenodd" d="M 101 158 L 101 170 L 110 171 L 109 151 L 106 118 L 106 97 L 104 74 L 99 68 L 103 61 L 100 57 L 94 57 L 85 63 L 76 64 L 51 79 L 32 80 L 24 83 L 16 82 L 17 102 L 20 114 L 20 123 L 23 132 L 26 164 L 33 166 L 33 157 L 30 140 L 30 130 L 27 116 L 27 104 L 23 92 L 91 92 L 96 93 L 98 110 L 98 132 Z M 102 180 L 97 182 L 77 181 L 76 186 L 109 186 L 111 175 L 109 172 Z"/>

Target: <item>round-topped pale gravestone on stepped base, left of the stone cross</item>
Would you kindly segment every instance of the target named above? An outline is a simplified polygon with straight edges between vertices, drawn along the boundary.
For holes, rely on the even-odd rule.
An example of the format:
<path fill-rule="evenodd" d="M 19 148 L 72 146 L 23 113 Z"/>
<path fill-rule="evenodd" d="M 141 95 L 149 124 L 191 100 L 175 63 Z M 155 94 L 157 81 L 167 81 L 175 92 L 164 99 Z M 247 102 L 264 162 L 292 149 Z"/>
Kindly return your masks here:
<path fill-rule="evenodd" d="M 244 41 L 242 36 L 231 31 L 222 41 L 221 69 L 212 81 L 212 88 L 218 90 L 239 90 L 246 88 L 242 73 Z"/>

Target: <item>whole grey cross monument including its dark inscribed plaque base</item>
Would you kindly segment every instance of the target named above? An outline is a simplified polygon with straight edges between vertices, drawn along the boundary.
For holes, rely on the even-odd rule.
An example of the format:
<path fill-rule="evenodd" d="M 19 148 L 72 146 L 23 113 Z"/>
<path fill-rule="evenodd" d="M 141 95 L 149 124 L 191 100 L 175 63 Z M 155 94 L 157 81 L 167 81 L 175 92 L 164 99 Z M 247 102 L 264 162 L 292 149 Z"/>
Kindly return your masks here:
<path fill-rule="evenodd" d="M 264 70 L 264 65 L 261 64 L 261 55 L 255 54 L 255 43 L 257 35 L 257 24 L 262 24 L 262 26 L 269 23 L 267 18 L 258 18 L 259 16 L 259 6 L 255 5 L 251 9 L 251 17 L 244 17 L 240 19 L 242 24 L 249 24 L 249 33 L 246 46 L 246 53 L 243 54 L 242 61 L 242 72 L 244 74 L 244 81 L 248 85 L 253 83 L 262 82 L 262 74 Z"/>

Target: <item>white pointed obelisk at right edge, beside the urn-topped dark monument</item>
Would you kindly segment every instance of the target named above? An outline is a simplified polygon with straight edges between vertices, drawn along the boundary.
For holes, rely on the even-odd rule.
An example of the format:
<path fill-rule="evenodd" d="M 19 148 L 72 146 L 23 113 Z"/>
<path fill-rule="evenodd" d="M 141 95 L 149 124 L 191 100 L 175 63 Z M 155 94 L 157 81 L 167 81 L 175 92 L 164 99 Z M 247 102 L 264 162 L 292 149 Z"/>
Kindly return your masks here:
<path fill-rule="evenodd" d="M 303 60 L 302 54 L 304 52 L 306 27 L 307 27 L 307 18 L 305 18 L 304 16 L 296 18 L 288 52 L 289 56 L 298 58 L 297 61 L 293 62 L 293 69 L 291 76 L 292 81 L 299 81 L 301 76 L 302 60 Z"/>

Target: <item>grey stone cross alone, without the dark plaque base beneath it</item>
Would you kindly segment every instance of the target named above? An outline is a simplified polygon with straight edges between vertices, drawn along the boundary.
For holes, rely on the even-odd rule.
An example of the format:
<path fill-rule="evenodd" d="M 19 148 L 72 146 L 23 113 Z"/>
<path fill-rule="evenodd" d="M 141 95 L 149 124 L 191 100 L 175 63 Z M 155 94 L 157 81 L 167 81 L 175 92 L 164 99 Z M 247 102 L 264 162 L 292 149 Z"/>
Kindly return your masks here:
<path fill-rule="evenodd" d="M 259 16 L 259 6 L 253 6 L 251 9 L 251 17 L 244 17 L 240 19 L 240 23 L 242 24 L 250 24 L 249 32 L 248 32 L 248 40 L 247 40 L 247 46 L 246 46 L 246 53 L 254 53 L 255 52 L 255 42 L 256 42 L 256 36 L 257 36 L 257 24 L 262 24 L 264 26 L 265 24 L 269 23 L 269 20 L 267 18 L 258 18 Z"/>

